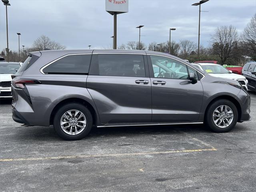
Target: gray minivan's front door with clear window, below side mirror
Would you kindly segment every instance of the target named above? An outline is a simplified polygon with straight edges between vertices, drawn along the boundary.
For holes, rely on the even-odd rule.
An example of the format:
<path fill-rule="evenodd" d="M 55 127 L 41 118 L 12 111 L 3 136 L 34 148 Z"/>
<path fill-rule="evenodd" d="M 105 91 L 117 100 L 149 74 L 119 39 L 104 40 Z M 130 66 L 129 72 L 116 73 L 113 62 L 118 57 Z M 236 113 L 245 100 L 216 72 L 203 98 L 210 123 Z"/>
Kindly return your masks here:
<path fill-rule="evenodd" d="M 164 56 L 148 56 L 152 85 L 152 122 L 196 122 L 203 100 L 200 80 L 188 74 L 196 70 Z"/>

